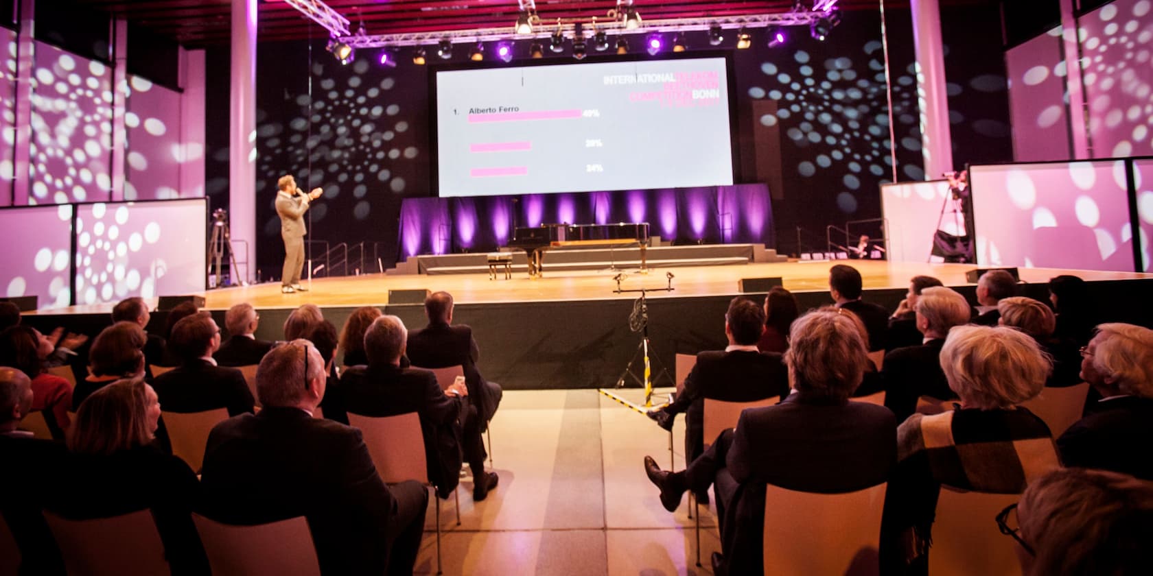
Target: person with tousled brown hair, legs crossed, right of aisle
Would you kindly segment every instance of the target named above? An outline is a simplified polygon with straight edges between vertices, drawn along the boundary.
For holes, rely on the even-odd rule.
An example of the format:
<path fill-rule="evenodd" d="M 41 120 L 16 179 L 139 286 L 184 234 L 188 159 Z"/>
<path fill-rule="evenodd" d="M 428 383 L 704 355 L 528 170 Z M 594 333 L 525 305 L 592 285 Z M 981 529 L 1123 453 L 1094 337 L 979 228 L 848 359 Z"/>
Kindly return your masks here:
<path fill-rule="evenodd" d="M 798 318 L 784 358 L 793 393 L 783 402 L 741 412 L 736 430 L 721 433 L 684 471 L 661 471 L 645 457 L 670 511 L 685 491 L 715 483 L 724 555 L 714 554 L 714 574 L 762 573 L 766 485 L 853 492 L 886 482 L 896 463 L 892 412 L 849 401 L 868 356 L 847 316 L 816 311 Z"/>

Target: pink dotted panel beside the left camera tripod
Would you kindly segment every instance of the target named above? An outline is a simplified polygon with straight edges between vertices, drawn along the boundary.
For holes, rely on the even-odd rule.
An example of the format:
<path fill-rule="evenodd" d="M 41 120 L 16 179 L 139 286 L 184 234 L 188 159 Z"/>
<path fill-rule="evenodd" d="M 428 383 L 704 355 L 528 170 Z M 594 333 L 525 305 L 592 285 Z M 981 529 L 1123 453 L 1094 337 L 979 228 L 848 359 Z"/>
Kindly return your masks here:
<path fill-rule="evenodd" d="M 203 198 L 84 204 L 76 218 L 76 303 L 204 290 Z"/>

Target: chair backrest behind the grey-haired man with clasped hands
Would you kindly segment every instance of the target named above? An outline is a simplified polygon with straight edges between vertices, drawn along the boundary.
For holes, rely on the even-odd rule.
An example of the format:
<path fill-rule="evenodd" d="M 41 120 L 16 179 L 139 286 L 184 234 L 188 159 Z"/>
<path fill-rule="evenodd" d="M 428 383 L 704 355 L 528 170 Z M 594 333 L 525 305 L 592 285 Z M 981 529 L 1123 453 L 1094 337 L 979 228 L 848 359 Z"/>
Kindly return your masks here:
<path fill-rule="evenodd" d="M 428 484 L 424 435 L 416 412 L 378 418 L 348 412 L 348 424 L 361 430 L 372 464 L 385 483 L 417 480 Z"/>

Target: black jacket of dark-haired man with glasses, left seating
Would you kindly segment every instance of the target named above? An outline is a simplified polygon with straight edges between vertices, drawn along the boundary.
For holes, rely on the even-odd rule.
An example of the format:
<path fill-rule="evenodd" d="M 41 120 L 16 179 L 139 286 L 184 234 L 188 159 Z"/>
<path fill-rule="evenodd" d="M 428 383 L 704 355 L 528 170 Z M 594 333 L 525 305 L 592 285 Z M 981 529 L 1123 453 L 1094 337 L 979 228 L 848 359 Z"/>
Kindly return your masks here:
<path fill-rule="evenodd" d="M 160 408 L 169 412 L 201 412 L 227 408 L 228 416 L 251 412 L 255 401 L 244 374 L 204 359 L 186 362 L 152 382 Z"/>

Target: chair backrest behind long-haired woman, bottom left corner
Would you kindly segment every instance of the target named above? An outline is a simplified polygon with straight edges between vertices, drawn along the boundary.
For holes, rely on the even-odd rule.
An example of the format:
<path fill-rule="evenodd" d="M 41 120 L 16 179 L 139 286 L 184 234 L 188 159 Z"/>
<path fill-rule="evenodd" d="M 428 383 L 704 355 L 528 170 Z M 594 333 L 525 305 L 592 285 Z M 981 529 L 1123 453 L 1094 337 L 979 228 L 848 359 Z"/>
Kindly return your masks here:
<path fill-rule="evenodd" d="M 96 520 L 66 520 L 45 511 L 44 520 L 68 574 L 169 574 L 164 543 L 150 510 Z"/>

